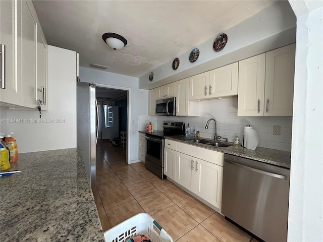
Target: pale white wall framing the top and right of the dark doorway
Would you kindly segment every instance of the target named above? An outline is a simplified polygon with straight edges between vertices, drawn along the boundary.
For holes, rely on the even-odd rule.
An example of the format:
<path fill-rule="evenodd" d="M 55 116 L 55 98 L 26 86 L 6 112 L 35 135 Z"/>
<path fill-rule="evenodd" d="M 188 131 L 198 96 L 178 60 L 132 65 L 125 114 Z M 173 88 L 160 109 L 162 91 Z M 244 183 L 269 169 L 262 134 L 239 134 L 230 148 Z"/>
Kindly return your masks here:
<path fill-rule="evenodd" d="M 90 68 L 80 67 L 80 78 L 82 82 L 103 84 L 107 87 L 129 90 L 128 114 L 130 114 L 130 125 L 128 124 L 128 162 L 138 161 L 138 119 L 139 115 L 148 114 L 148 90 L 138 88 L 138 78 L 120 75 L 116 73 L 103 72 Z"/>

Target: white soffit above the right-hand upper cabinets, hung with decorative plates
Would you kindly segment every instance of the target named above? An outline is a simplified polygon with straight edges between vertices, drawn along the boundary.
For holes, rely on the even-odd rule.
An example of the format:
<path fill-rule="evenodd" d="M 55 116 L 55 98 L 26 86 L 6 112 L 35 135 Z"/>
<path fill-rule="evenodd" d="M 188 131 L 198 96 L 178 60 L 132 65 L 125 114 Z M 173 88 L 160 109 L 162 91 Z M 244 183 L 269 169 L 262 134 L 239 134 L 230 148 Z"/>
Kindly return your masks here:
<path fill-rule="evenodd" d="M 239 24 L 223 29 L 228 35 L 226 47 L 216 52 L 213 42 L 220 33 L 197 47 L 200 50 L 196 62 L 189 62 L 189 52 L 179 56 L 179 68 L 172 68 L 173 59 L 154 70 L 153 81 L 149 81 L 149 73 L 139 78 L 139 87 L 151 89 L 170 82 L 178 81 L 202 72 L 213 70 L 266 51 L 295 43 L 296 18 L 287 1 L 277 3 L 263 9 L 254 16 Z"/>

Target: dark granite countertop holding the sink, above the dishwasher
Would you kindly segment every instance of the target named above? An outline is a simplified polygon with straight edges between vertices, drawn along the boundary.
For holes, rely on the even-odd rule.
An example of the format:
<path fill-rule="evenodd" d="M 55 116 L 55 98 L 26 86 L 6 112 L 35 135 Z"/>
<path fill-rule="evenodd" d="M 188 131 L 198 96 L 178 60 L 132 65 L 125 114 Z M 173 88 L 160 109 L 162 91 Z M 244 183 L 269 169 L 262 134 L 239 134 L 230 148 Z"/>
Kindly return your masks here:
<path fill-rule="evenodd" d="M 255 150 L 250 150 L 247 148 L 243 148 L 240 145 L 232 145 L 229 147 L 214 147 L 210 145 L 205 145 L 201 143 L 193 142 L 193 138 L 186 138 L 184 135 L 179 136 L 167 136 L 166 139 L 174 140 L 182 143 L 186 143 L 189 145 L 195 145 L 198 147 L 219 151 L 225 154 L 236 155 L 272 165 L 277 165 L 285 168 L 291 167 L 291 152 L 281 151 L 281 150 L 274 150 L 274 149 L 267 149 L 257 147 Z M 204 140 L 209 140 L 205 138 L 199 138 Z M 216 142 L 214 140 L 209 140 L 210 142 Z M 219 142 L 219 141 L 218 141 Z M 220 142 L 223 143 L 223 142 Z M 230 143 L 233 144 L 233 143 Z"/>

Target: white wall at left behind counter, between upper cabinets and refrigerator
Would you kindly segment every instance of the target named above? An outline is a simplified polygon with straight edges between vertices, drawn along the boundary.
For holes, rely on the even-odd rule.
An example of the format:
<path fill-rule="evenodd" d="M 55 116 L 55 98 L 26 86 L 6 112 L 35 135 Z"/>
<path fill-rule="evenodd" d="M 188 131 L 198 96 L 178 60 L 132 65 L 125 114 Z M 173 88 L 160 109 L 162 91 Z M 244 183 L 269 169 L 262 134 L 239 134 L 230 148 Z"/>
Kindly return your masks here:
<path fill-rule="evenodd" d="M 1 131 L 12 131 L 18 152 L 76 147 L 76 52 L 48 45 L 48 111 L 2 109 L 2 118 L 22 119 L 1 123 Z M 42 123 L 44 120 L 53 123 Z M 61 119 L 62 123 L 56 123 Z M 33 122 L 33 121 L 34 122 Z M 40 123 L 35 123 L 40 120 Z"/>

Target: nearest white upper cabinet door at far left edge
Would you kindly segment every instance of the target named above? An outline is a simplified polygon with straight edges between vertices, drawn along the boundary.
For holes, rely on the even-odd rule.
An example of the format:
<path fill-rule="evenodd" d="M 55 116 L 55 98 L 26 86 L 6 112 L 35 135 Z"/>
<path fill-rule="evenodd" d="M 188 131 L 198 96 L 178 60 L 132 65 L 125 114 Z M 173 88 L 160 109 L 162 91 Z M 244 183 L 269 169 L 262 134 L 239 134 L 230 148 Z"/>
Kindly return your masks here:
<path fill-rule="evenodd" d="M 5 89 L 0 89 L 2 104 L 21 105 L 22 87 L 21 79 L 18 80 L 16 72 L 17 58 L 17 34 L 18 29 L 15 20 L 15 8 L 17 1 L 0 1 L 0 44 L 5 48 L 1 53 L 2 60 L 5 60 Z"/>

